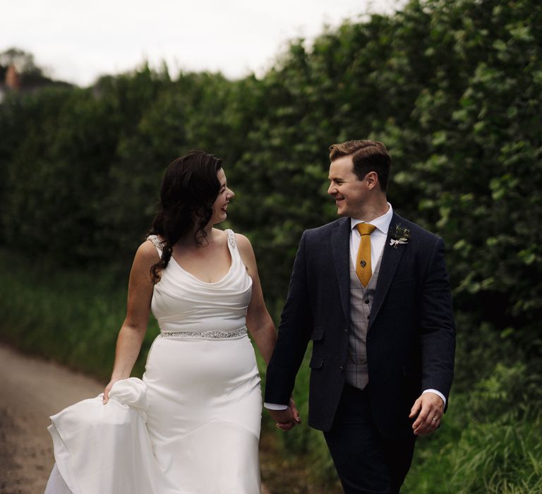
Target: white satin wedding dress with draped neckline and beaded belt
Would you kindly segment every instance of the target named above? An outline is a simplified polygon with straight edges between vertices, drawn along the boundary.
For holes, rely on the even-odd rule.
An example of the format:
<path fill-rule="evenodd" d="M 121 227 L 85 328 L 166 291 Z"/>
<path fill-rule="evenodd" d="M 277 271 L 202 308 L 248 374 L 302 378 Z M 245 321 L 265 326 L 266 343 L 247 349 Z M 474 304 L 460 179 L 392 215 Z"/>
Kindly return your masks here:
<path fill-rule="evenodd" d="M 252 280 L 227 235 L 231 268 L 219 282 L 173 258 L 162 271 L 151 303 L 161 332 L 143 380 L 116 382 L 106 405 L 100 395 L 51 417 L 46 494 L 260 493 L 262 399 L 245 327 Z"/>

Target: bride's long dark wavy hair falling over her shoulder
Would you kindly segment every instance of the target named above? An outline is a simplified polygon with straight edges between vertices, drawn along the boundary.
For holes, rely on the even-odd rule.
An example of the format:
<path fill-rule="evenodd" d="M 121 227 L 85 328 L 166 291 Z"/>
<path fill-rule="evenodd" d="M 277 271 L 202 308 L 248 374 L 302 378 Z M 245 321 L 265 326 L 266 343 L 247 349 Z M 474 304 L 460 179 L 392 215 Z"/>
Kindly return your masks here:
<path fill-rule="evenodd" d="M 160 279 L 173 246 L 182 236 L 195 229 L 195 241 L 207 241 L 205 227 L 212 217 L 212 203 L 220 191 L 217 172 L 222 159 L 208 152 L 194 150 L 169 164 L 160 186 L 157 213 L 147 235 L 158 235 L 162 241 L 162 256 L 150 267 L 153 283 Z"/>

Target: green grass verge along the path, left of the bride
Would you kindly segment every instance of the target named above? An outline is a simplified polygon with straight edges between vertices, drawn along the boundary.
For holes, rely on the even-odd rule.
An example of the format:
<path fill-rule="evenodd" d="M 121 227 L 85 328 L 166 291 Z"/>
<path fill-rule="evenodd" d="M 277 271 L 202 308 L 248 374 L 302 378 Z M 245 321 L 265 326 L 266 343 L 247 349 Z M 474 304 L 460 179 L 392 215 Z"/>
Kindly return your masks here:
<path fill-rule="evenodd" d="M 126 311 L 128 270 L 64 270 L 0 253 L 0 339 L 107 382 Z M 157 334 L 150 320 L 134 368 L 141 375 Z"/>

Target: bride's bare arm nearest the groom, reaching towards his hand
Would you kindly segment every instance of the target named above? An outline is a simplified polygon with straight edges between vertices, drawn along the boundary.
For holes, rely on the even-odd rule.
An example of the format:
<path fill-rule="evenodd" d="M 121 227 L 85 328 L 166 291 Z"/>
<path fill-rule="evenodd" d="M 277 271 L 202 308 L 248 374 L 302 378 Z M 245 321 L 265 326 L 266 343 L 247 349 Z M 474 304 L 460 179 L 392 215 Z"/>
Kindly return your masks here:
<path fill-rule="evenodd" d="M 248 332 L 251 333 L 251 337 L 253 337 L 265 363 L 269 363 L 273 349 L 275 349 L 275 342 L 277 342 L 275 324 L 267 312 L 267 307 L 265 307 L 260 277 L 258 276 L 258 267 L 251 242 L 246 236 L 240 234 L 236 234 L 236 238 L 241 259 L 246 266 L 248 275 L 252 278 L 252 298 L 246 312 L 246 327 L 248 328 Z"/>

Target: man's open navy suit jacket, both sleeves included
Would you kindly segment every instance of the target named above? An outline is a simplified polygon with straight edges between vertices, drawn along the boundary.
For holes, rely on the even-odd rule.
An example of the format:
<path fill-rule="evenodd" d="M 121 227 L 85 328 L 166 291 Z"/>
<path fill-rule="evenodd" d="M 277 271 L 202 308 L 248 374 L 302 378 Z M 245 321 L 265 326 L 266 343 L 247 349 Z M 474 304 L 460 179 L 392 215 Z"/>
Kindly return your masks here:
<path fill-rule="evenodd" d="M 390 246 L 392 230 L 410 230 Z M 291 273 L 265 402 L 287 404 L 313 340 L 308 423 L 329 430 L 344 385 L 350 331 L 350 219 L 303 233 Z M 411 406 L 422 390 L 446 397 L 453 377 L 455 327 L 444 242 L 395 214 L 390 223 L 367 334 L 368 396 L 386 437 L 411 434 Z"/>

